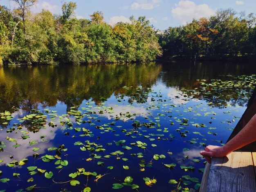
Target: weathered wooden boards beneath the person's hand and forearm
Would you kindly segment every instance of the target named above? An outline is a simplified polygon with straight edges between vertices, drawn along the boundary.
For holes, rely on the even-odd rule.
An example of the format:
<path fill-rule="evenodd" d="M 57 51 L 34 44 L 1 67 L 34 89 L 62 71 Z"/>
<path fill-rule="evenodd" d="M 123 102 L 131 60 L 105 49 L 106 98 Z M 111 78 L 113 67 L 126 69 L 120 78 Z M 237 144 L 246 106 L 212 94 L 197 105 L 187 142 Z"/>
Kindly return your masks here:
<path fill-rule="evenodd" d="M 232 152 L 227 157 L 213 158 L 207 192 L 256 192 L 251 152 Z"/>

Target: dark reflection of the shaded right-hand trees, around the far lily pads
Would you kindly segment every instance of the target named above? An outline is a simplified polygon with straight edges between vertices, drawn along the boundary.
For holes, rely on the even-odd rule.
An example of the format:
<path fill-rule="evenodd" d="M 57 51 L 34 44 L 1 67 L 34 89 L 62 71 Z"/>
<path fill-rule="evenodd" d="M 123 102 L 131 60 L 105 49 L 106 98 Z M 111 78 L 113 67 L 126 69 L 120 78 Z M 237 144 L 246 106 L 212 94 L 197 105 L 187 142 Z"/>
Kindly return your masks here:
<path fill-rule="evenodd" d="M 214 90 L 214 86 L 209 86 L 201 90 L 201 80 L 206 80 L 206 83 L 211 83 L 212 79 L 221 79 L 222 81 L 232 80 L 240 74 L 251 75 L 256 69 L 256 66 L 245 66 L 241 64 L 223 64 L 223 63 L 179 63 L 174 62 L 170 65 L 163 65 L 161 73 L 162 83 L 167 87 L 175 87 L 190 98 L 198 98 L 213 103 L 216 107 L 222 108 L 229 105 L 244 106 L 247 103 L 252 89 L 246 87 L 232 87 L 229 89 Z M 196 90 L 199 94 L 193 94 Z"/>

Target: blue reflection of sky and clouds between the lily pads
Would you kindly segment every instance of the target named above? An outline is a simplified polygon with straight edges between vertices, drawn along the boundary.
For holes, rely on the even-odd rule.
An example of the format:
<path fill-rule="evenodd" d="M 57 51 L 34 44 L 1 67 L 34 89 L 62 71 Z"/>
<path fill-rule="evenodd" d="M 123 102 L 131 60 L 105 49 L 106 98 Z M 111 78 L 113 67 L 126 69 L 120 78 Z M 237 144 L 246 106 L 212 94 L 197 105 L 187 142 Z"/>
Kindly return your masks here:
<path fill-rule="evenodd" d="M 159 99 L 162 99 L 162 101 L 159 101 Z M 66 125 L 52 128 L 47 125 L 48 123 L 45 124 L 45 126 L 47 127 L 46 129 L 40 129 L 40 131 L 36 133 L 29 132 L 30 138 L 27 138 L 25 140 L 21 139 L 22 133 L 16 134 L 15 131 L 12 133 L 6 133 L 4 130 L 0 132 L 0 141 L 6 141 L 7 147 L 4 148 L 4 152 L 0 152 L 0 159 L 3 159 L 7 163 L 9 163 L 13 159 L 19 161 L 21 159 L 28 158 L 29 156 L 35 153 L 32 151 L 33 147 L 40 147 L 40 150 L 37 151 L 40 154 L 40 156 L 45 154 L 54 155 L 54 152 L 48 152 L 47 148 L 58 147 L 61 144 L 65 144 L 65 147 L 67 147 L 68 149 L 66 152 L 68 155 L 62 154 L 61 157 L 62 159 L 67 159 L 69 161 L 69 166 L 64 167 L 60 173 L 58 173 L 59 170 L 55 169 L 56 166 L 54 165 L 54 162 L 45 164 L 42 163 L 42 160 L 38 160 L 34 161 L 33 164 L 33 162 L 31 163 L 30 161 L 31 159 L 29 159 L 29 162 L 27 164 L 29 166 L 36 165 L 40 168 L 46 169 L 47 171 L 53 171 L 54 176 L 58 179 L 58 181 L 68 181 L 70 179 L 70 177 L 68 177 L 68 174 L 70 174 L 71 172 L 75 172 L 76 168 L 78 167 L 85 167 L 87 171 L 96 171 L 98 174 L 110 172 L 111 174 L 105 176 L 104 179 L 101 179 L 100 183 L 96 186 L 93 181 L 90 181 L 89 186 L 96 191 L 100 191 L 106 188 L 111 190 L 112 183 L 117 182 L 113 178 L 123 180 L 128 174 L 135 179 L 135 183 L 138 184 L 143 191 L 155 191 L 155 188 L 148 188 L 144 184 L 142 178 L 146 176 L 150 178 L 155 177 L 156 179 L 158 179 L 157 189 L 166 191 L 166 186 L 168 186 L 168 189 L 172 188 L 170 185 L 168 185 L 169 179 L 178 180 L 182 177 L 182 175 L 190 175 L 191 177 L 198 177 L 200 180 L 200 178 L 202 177 L 202 173 L 199 173 L 198 169 L 204 167 L 204 164 L 202 163 L 204 160 L 199 155 L 199 151 L 203 149 L 202 145 L 200 145 L 200 142 L 206 143 L 207 145 L 220 145 L 220 143 L 216 142 L 216 140 L 223 140 L 224 143 L 231 134 L 231 130 L 227 128 L 233 128 L 238 122 L 238 119 L 234 118 L 234 116 L 240 117 L 243 114 L 243 111 L 245 110 L 245 107 L 238 108 L 227 106 L 227 108 L 224 109 L 211 107 L 211 105 L 208 105 L 207 102 L 204 100 L 189 99 L 187 97 L 184 97 L 184 94 L 182 94 L 181 91 L 175 89 L 175 87 L 166 87 L 165 85 L 159 82 L 157 85 L 154 85 L 152 87 L 152 92 L 148 94 L 147 102 L 144 104 L 129 104 L 127 96 L 120 100 L 121 102 L 117 102 L 117 98 L 114 94 L 110 98 L 108 98 L 108 100 L 105 103 L 103 103 L 103 106 L 112 107 L 113 113 L 104 112 L 103 114 L 98 114 L 98 111 L 104 111 L 106 108 L 103 108 L 103 106 L 100 105 L 95 105 L 93 101 L 89 101 L 90 104 L 86 105 L 88 100 L 83 100 L 81 106 L 79 107 L 79 110 L 82 111 L 82 114 L 85 114 L 85 112 L 87 112 L 87 110 L 82 109 L 82 107 L 85 107 L 97 112 L 97 115 L 88 114 L 88 116 L 86 116 L 85 114 L 82 120 L 87 121 L 89 117 L 97 117 L 95 119 L 90 119 L 92 123 L 94 123 L 95 125 L 90 125 L 89 123 L 77 125 L 74 122 L 74 117 L 71 117 L 70 119 L 72 119 L 74 123 L 74 125 L 72 126 L 73 128 L 85 127 L 86 129 L 90 129 L 90 131 L 92 131 L 92 133 L 94 134 L 94 136 L 92 137 L 80 137 L 79 135 L 81 134 L 81 132 L 74 132 L 74 130 L 69 131 L 69 136 L 64 136 L 63 133 L 67 132 L 67 130 L 63 131 L 61 130 L 61 128 L 65 127 Z M 58 115 L 61 115 L 66 114 L 66 107 L 67 106 L 63 105 L 63 103 L 58 102 L 55 107 L 49 107 L 49 110 L 56 110 L 58 111 Z M 224 114 L 223 112 L 226 111 L 230 111 L 232 114 Z M 126 112 L 130 112 L 130 114 L 136 115 L 132 115 L 130 118 L 121 117 L 119 121 L 115 121 L 116 116 L 120 116 L 120 113 L 125 114 Z M 216 114 L 212 114 L 213 112 Z M 163 114 L 163 116 L 160 116 L 159 114 Z M 16 112 L 13 115 L 15 117 L 23 116 L 22 111 Z M 182 120 L 184 118 L 188 119 L 189 125 L 180 125 L 181 122 L 179 121 L 179 119 Z M 235 122 L 232 121 L 233 119 Z M 100 122 L 98 122 L 98 120 Z M 121 130 L 133 130 L 134 127 L 131 124 L 135 120 L 140 121 L 141 123 L 159 122 L 159 129 L 157 129 L 157 125 L 155 125 L 156 128 L 146 128 L 142 126 L 139 127 L 139 129 L 136 129 L 138 131 L 138 134 L 132 134 L 136 136 L 136 138 L 132 138 L 131 136 L 124 136 L 125 133 L 123 133 Z M 49 121 L 53 120 L 49 119 Z M 58 117 L 56 117 L 56 120 L 54 121 L 54 124 L 59 124 Z M 95 129 L 96 125 L 103 125 L 104 123 L 111 123 L 113 121 L 115 122 L 115 126 L 109 125 L 110 127 L 112 127 L 113 132 L 104 132 L 103 130 Z M 11 121 L 11 124 L 13 122 L 15 121 Z M 170 125 L 171 122 L 173 122 L 174 125 Z M 195 123 L 203 123 L 205 127 L 193 126 L 192 124 Z M 216 127 L 216 129 L 209 129 L 211 127 Z M 167 128 L 167 132 L 163 132 L 164 128 Z M 180 131 L 178 131 L 177 129 L 180 129 Z M 22 130 L 26 130 L 26 128 L 23 127 Z M 52 132 L 50 132 L 50 130 L 52 130 Z M 211 131 L 212 133 L 208 134 L 209 131 Z M 180 136 L 180 133 L 182 132 L 186 134 L 186 137 Z M 193 134 L 193 132 L 200 132 L 201 135 Z M 213 133 L 217 135 L 214 136 Z M 163 134 L 164 136 L 162 136 L 158 140 L 158 136 L 150 134 Z M 175 138 L 165 140 L 165 138 L 170 138 L 169 134 L 173 134 Z M 41 141 L 41 135 L 46 135 L 44 139 L 47 139 L 47 142 Z M 150 135 L 149 138 L 155 138 L 155 141 L 149 141 L 148 138 L 144 137 L 145 135 Z M 15 149 L 14 147 L 12 147 L 12 145 L 14 145 L 15 143 L 7 141 L 5 139 L 6 136 L 18 138 L 17 143 L 20 144 L 21 146 Z M 126 143 L 124 145 L 127 146 L 131 146 L 130 143 L 135 143 L 136 141 L 145 142 L 147 143 L 148 146 L 146 147 L 146 150 L 139 149 L 137 146 L 131 146 L 131 150 L 124 151 L 124 149 L 120 145 L 115 145 L 115 142 L 121 139 L 126 140 Z M 30 146 L 29 141 L 32 140 L 38 142 L 38 144 Z M 87 162 L 85 161 L 85 159 L 91 157 L 90 154 L 92 152 L 81 152 L 81 150 L 79 149 L 81 146 L 74 145 L 74 142 L 76 141 L 84 142 L 85 140 L 90 140 L 91 142 L 103 145 L 103 147 L 106 149 L 105 152 L 94 152 L 95 154 L 104 156 L 116 150 L 121 150 L 125 152 L 122 158 L 127 158 L 128 161 L 117 160 L 115 156 L 111 157 L 110 159 L 103 158 L 100 159 L 100 161 L 104 161 L 104 167 L 100 167 L 97 165 L 97 161 L 99 161 L 98 159 L 95 159 L 92 162 Z M 196 141 L 197 143 L 190 144 L 191 140 Z M 106 143 L 112 143 L 112 145 L 106 146 Z M 153 147 L 151 144 L 155 144 L 157 145 L 157 147 Z M 183 148 L 189 148 L 189 151 L 184 152 Z M 140 163 L 139 160 L 141 159 L 137 157 L 133 158 L 132 156 L 130 156 L 130 154 L 137 154 L 138 152 L 143 153 L 143 159 L 146 160 L 146 163 L 152 162 L 153 167 L 145 167 L 145 172 L 139 172 L 138 163 Z M 173 154 L 170 155 L 167 154 L 167 152 L 173 152 Z M 156 161 L 153 159 L 154 154 L 164 154 L 166 156 L 166 159 L 159 159 Z M 13 155 L 13 159 L 10 159 L 10 155 Z M 184 155 L 189 156 L 189 160 L 185 159 Z M 200 163 L 195 163 L 194 161 L 191 161 L 191 159 L 199 159 Z M 176 163 L 177 166 L 173 170 L 169 170 L 167 168 L 164 168 L 164 163 Z M 127 172 L 124 171 L 122 168 L 123 165 L 128 165 L 130 167 L 130 170 Z M 194 166 L 195 172 L 184 172 L 184 170 L 180 169 L 180 165 Z M 109 171 L 106 169 L 107 166 L 114 166 L 115 168 Z M 6 173 L 6 171 L 9 170 L 10 168 L 4 166 L 1 166 L 1 168 L 3 168 L 5 171 L 4 177 L 11 177 L 11 175 L 8 175 Z M 27 170 L 25 168 L 20 168 L 20 170 L 23 170 L 25 174 L 27 174 Z M 34 177 L 36 179 L 39 176 Z M 38 180 L 35 180 L 38 185 L 40 185 L 40 178 L 42 179 L 42 177 L 43 176 L 39 177 Z M 84 184 L 84 178 L 83 180 L 81 179 L 81 177 L 79 178 L 81 183 L 83 182 Z M 45 178 L 43 177 L 43 179 Z M 47 180 L 47 182 L 49 183 L 50 181 Z M 189 185 L 189 187 L 193 187 L 194 184 L 195 183 L 192 183 L 191 185 Z M 28 186 L 28 184 L 27 182 L 24 182 L 20 184 L 20 186 L 24 186 L 25 188 Z M 60 185 L 53 185 L 51 187 L 52 190 L 56 191 L 60 188 Z M 65 185 L 64 187 L 69 190 L 81 190 L 81 188 L 73 188 L 69 184 Z M 129 191 L 127 188 L 123 189 L 124 190 L 122 191 Z"/>

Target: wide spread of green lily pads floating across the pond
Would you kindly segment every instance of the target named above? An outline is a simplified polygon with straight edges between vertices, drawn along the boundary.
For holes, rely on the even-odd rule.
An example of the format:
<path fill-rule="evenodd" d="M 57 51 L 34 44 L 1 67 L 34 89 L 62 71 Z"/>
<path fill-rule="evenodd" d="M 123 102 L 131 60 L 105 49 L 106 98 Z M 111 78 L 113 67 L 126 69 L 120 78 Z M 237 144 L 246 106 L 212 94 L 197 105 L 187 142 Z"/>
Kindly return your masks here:
<path fill-rule="evenodd" d="M 231 100 L 244 100 L 246 103 L 256 86 L 255 75 L 231 78 L 232 80 L 227 81 L 211 80 L 210 83 L 198 80 L 198 87 L 193 90 L 181 88 L 183 104 L 175 104 L 174 101 L 179 100 L 179 96 L 169 98 L 151 88 L 138 87 L 137 92 L 130 98 L 122 94 L 115 96 L 116 103 L 125 108 L 121 111 L 118 108 L 120 105 L 108 103 L 108 99 L 101 98 L 102 103 L 99 105 L 94 105 L 93 101 L 88 100 L 81 106 L 71 107 L 65 114 L 59 114 L 56 109 L 32 109 L 25 115 L 19 115 L 20 109 L 15 108 L 12 113 L 2 112 L 0 135 L 4 137 L 0 137 L 0 182 L 15 183 L 11 181 L 12 178 L 5 176 L 8 175 L 9 169 L 14 178 L 28 183 L 22 184 L 27 186 L 27 191 L 44 187 L 43 179 L 48 179 L 52 185 L 60 185 L 63 191 L 72 190 L 72 187 L 77 190 L 75 187 L 79 187 L 84 192 L 90 192 L 91 188 L 95 188 L 93 182 L 98 183 L 104 178 L 112 182 L 112 189 L 125 187 L 127 190 L 140 190 L 145 186 L 154 188 L 161 182 L 152 174 L 152 169 L 157 167 L 158 172 L 170 173 L 166 188 L 173 191 L 189 191 L 187 186 L 198 189 L 200 178 L 193 175 L 198 175 L 195 174 L 197 170 L 202 176 L 204 160 L 199 154 L 198 157 L 191 157 L 187 153 L 193 150 L 190 146 L 195 145 L 198 149 L 203 149 L 209 140 L 223 145 L 222 139 L 217 136 L 217 128 L 212 126 L 214 121 L 221 120 L 225 128 L 233 130 L 232 125 L 239 117 L 233 115 L 231 110 L 238 113 L 237 107 L 240 106 Z M 123 88 L 129 89 L 126 86 Z M 225 104 L 223 99 L 220 99 L 221 94 L 229 97 Z M 209 101 L 209 97 L 215 99 L 211 98 Z M 206 102 L 186 103 L 195 99 L 204 99 Z M 216 102 L 213 103 L 212 100 Z M 139 109 L 136 109 L 137 107 Z M 214 107 L 223 108 L 223 115 L 216 117 L 218 114 L 213 111 Z M 203 121 L 202 118 L 210 121 Z M 54 139 L 49 135 L 58 131 L 61 132 L 61 139 L 55 142 L 54 146 L 42 149 L 42 146 L 54 143 Z M 41 132 L 43 134 L 40 134 Z M 31 139 L 34 138 L 33 134 L 38 135 L 38 138 Z M 210 139 L 207 140 L 206 135 Z M 27 141 L 27 144 L 23 141 Z M 173 148 L 170 142 L 179 145 L 184 143 L 179 152 L 181 154 L 166 150 Z M 43 145 L 39 146 L 42 143 Z M 8 151 L 10 146 L 14 151 Z M 31 149 L 31 153 L 24 159 L 17 159 L 16 156 L 22 147 Z M 79 155 L 76 158 L 70 157 L 69 154 L 73 152 L 79 152 Z M 1 154 L 8 158 L 1 159 Z M 85 162 L 85 166 L 76 164 L 75 159 Z M 192 166 L 193 163 L 198 165 Z M 5 172 L 1 171 L 3 166 Z M 93 171 L 93 168 L 97 172 Z M 17 169 L 23 171 L 19 173 Z M 127 175 L 115 175 L 115 179 L 111 179 L 109 175 L 117 171 L 122 172 L 121 175 L 127 172 Z M 180 174 L 179 178 L 172 174 L 173 171 Z M 65 175 L 62 172 L 69 173 Z M 183 175 L 183 172 L 189 174 Z M 139 178 L 137 173 L 143 176 Z M 28 175 L 29 178 L 24 180 Z M 1 185 L 0 191 L 4 191 L 4 188 L 5 186 Z"/>

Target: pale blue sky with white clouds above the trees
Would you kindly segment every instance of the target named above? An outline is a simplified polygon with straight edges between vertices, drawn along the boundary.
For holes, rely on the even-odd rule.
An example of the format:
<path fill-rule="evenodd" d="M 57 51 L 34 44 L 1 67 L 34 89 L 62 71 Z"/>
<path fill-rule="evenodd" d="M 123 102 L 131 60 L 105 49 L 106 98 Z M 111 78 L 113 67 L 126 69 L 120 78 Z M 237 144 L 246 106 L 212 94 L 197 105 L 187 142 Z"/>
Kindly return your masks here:
<path fill-rule="evenodd" d="M 60 14 L 63 2 L 76 2 L 76 17 L 90 19 L 94 11 L 102 11 L 105 21 L 114 25 L 128 21 L 130 16 L 146 16 L 155 28 L 164 30 L 191 22 L 193 18 L 209 17 L 218 9 L 232 8 L 247 14 L 256 12 L 256 0 L 38 0 L 33 12 L 43 8 Z M 1 5 L 14 6 L 11 0 L 0 0 Z"/>

